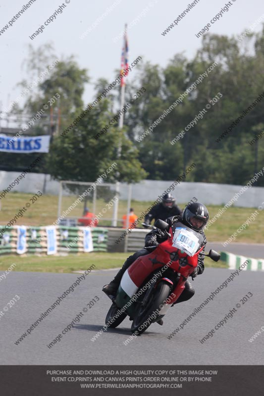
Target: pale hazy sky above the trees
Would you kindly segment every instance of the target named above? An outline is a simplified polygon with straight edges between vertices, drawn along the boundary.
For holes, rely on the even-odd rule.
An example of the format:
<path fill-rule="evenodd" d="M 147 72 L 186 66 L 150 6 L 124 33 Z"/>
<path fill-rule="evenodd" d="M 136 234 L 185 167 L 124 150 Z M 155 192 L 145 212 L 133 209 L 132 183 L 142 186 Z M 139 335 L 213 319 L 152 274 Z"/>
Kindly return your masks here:
<path fill-rule="evenodd" d="M 196 1 L 196 5 L 189 7 L 189 12 L 183 18 L 178 18 L 192 3 L 191 0 L 32 0 L 31 5 L 24 7 L 25 11 L 13 21 L 12 18 L 28 1 L 2 2 L 1 108 L 21 93 L 21 88 L 16 87 L 16 84 L 27 78 L 21 65 L 28 56 L 28 44 L 37 49 L 52 42 L 58 58 L 74 55 L 79 66 L 88 69 L 91 80 L 86 84 L 83 96 L 87 104 L 94 97 L 93 84 L 96 80 L 105 77 L 112 82 L 115 78 L 114 71 L 120 68 L 122 38 L 117 37 L 125 23 L 129 27 L 130 62 L 141 55 L 144 60 L 165 67 L 175 53 L 183 52 L 188 58 L 195 55 L 202 43 L 202 38 L 197 38 L 196 34 L 221 10 L 219 20 L 210 26 L 210 33 L 240 35 L 264 14 L 263 0 Z M 223 12 L 223 7 L 228 3 L 228 11 Z M 55 12 L 59 7 L 61 13 Z M 51 16 L 53 21 L 50 20 L 45 25 Z M 165 36 L 161 35 L 177 18 L 177 26 Z M 5 25 L 9 27 L 1 33 Z M 43 32 L 31 40 L 29 36 L 41 26 L 44 26 Z M 259 23 L 254 31 L 261 30 L 262 25 Z M 85 33 L 85 37 L 81 38 Z M 132 77 L 131 73 L 128 78 Z M 1 125 L 5 126 L 3 121 Z"/>

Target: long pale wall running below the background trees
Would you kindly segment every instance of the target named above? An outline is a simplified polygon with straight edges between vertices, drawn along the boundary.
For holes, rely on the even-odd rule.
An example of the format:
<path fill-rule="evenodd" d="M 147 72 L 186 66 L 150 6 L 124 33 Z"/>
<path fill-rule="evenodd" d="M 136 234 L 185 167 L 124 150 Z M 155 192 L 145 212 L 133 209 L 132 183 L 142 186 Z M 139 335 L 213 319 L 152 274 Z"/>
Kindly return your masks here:
<path fill-rule="evenodd" d="M 19 172 L 0 171 L 0 191 L 6 189 L 19 176 Z M 46 179 L 46 181 L 45 181 Z M 170 187 L 173 181 L 143 180 L 132 185 L 132 199 L 139 201 L 155 201 Z M 102 186 L 104 184 L 102 183 Z M 231 200 L 243 186 L 216 183 L 181 182 L 171 194 L 178 203 L 188 202 L 193 197 L 205 204 L 224 205 Z M 10 190 L 21 193 L 35 193 L 41 190 L 46 194 L 58 195 L 59 182 L 50 175 L 28 173 L 26 177 Z M 120 184 L 120 199 L 127 199 L 127 184 Z M 264 187 L 251 187 L 234 202 L 234 206 L 258 207 L 264 202 Z"/>

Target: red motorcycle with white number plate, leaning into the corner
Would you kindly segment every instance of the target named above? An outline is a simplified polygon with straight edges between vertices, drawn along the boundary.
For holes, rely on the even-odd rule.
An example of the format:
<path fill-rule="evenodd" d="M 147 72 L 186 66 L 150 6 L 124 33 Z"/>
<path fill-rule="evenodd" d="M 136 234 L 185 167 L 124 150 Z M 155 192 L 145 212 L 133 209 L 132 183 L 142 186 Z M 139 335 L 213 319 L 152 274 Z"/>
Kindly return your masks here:
<path fill-rule="evenodd" d="M 171 227 L 162 220 L 155 227 L 165 231 L 168 239 L 157 247 L 148 247 L 149 254 L 138 257 L 124 273 L 107 315 L 106 326 L 118 326 L 128 315 L 133 320 L 131 332 L 144 333 L 158 322 L 177 301 L 188 277 L 198 265 L 203 250 L 203 236 L 182 224 Z M 210 250 L 205 256 L 218 261 L 220 254 Z"/>

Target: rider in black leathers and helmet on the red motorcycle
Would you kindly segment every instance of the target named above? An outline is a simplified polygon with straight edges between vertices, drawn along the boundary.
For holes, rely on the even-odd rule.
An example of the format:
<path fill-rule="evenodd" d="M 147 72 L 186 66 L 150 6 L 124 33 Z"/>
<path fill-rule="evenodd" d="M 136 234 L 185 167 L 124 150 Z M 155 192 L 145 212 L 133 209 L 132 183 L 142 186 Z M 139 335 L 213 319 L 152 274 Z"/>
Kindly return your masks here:
<path fill-rule="evenodd" d="M 187 227 L 191 228 L 194 231 L 197 231 L 201 233 L 204 237 L 204 242 L 203 242 L 203 250 L 199 253 L 198 255 L 198 266 L 195 268 L 194 272 L 191 274 L 192 279 L 195 278 L 197 275 L 200 275 L 204 272 L 205 266 L 204 266 L 204 256 L 203 253 L 205 251 L 205 246 L 207 243 L 206 236 L 203 232 L 204 227 L 206 226 L 207 222 L 209 220 L 209 212 L 207 207 L 200 202 L 190 202 L 188 205 L 185 206 L 183 213 L 181 216 L 172 216 L 166 219 L 166 222 L 168 223 L 168 226 L 171 227 L 171 225 L 177 221 L 180 221 Z M 166 241 L 168 238 L 167 234 L 165 231 L 162 231 L 158 228 L 152 230 L 149 232 L 146 237 L 145 237 L 145 247 L 141 250 L 138 250 L 136 253 L 134 253 L 132 256 L 129 256 L 127 260 L 124 262 L 122 268 L 118 271 L 114 279 L 109 283 L 109 285 L 105 285 L 103 287 L 103 292 L 105 292 L 107 295 L 112 295 L 115 296 L 117 289 L 119 287 L 119 284 L 121 282 L 121 278 L 127 268 L 140 256 L 143 256 L 145 254 L 149 254 L 149 251 L 146 247 L 152 247 L 152 246 L 158 246 L 158 244 Z M 194 287 L 189 281 L 186 281 L 185 283 L 185 289 L 180 295 L 180 297 L 177 299 L 175 302 L 182 302 L 190 299 L 191 297 L 194 296 Z M 173 304 L 174 305 L 174 304 Z M 161 321 L 162 322 L 162 321 Z M 162 322 L 163 323 L 163 322 Z M 160 323 L 160 324 L 162 324 Z"/>

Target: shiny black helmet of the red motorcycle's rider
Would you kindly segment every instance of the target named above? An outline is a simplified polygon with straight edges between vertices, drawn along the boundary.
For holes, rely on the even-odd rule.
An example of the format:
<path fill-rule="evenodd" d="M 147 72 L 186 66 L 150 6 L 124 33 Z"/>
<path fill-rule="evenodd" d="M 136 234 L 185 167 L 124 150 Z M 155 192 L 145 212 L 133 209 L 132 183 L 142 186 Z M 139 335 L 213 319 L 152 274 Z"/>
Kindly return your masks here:
<path fill-rule="evenodd" d="M 193 225 L 191 223 L 191 218 L 195 218 L 197 220 L 202 221 L 202 224 Z M 209 220 L 209 212 L 207 207 L 200 202 L 191 202 L 185 206 L 182 212 L 182 222 L 188 227 L 192 228 L 195 231 L 201 231 L 207 224 Z"/>

